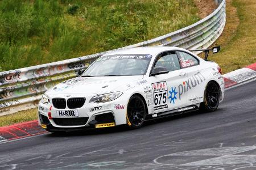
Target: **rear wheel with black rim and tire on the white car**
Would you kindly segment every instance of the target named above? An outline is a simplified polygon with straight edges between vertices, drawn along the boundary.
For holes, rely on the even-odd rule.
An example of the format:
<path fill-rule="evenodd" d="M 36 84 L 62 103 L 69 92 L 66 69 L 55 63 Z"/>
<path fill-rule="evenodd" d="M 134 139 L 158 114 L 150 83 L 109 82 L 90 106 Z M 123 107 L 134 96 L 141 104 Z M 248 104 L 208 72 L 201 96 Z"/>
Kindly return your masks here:
<path fill-rule="evenodd" d="M 220 88 L 216 82 L 210 81 L 205 87 L 204 102 L 200 103 L 201 111 L 213 112 L 220 103 Z"/>

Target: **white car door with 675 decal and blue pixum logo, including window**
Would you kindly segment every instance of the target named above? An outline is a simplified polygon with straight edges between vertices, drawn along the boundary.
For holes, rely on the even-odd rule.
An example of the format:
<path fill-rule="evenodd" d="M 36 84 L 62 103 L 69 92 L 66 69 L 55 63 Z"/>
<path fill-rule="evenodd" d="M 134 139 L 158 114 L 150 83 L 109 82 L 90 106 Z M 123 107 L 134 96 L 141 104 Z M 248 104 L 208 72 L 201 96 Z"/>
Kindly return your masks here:
<path fill-rule="evenodd" d="M 176 52 L 159 54 L 151 72 L 156 67 L 165 67 L 169 73 L 149 77 L 153 91 L 152 112 L 159 113 L 186 106 L 184 81 L 187 80 L 187 73 L 181 69 Z"/>

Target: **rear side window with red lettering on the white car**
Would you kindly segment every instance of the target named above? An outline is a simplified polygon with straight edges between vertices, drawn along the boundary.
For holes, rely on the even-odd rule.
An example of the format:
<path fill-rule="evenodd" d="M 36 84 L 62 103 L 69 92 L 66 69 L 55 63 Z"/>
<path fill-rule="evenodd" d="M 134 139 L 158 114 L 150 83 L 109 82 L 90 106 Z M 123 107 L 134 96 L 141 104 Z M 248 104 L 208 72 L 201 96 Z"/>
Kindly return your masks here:
<path fill-rule="evenodd" d="M 198 65 L 198 60 L 185 52 L 177 52 L 179 54 L 181 68 Z"/>

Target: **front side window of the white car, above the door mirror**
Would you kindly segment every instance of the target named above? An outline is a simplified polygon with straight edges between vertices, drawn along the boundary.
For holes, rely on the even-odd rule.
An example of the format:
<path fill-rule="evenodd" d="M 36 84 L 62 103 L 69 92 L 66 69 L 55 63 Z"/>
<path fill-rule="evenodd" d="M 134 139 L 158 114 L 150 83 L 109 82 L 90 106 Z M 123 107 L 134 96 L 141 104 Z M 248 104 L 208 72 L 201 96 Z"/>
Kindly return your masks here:
<path fill-rule="evenodd" d="M 155 61 L 154 67 L 166 67 L 168 71 L 180 69 L 179 59 L 175 52 L 160 54 Z"/>

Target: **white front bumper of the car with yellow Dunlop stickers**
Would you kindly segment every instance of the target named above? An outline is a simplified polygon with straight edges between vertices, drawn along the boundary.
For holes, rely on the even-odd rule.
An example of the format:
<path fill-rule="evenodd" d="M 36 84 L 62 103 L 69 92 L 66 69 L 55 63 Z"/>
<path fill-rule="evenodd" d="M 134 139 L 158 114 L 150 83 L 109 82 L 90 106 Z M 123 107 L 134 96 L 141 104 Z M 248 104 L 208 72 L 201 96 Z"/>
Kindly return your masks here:
<path fill-rule="evenodd" d="M 125 98 L 125 97 L 123 97 Z M 118 107 L 117 107 L 118 106 Z M 39 102 L 38 122 L 48 131 L 84 130 L 126 124 L 127 101 L 119 97 L 107 103 L 85 103 L 81 108 L 57 109 L 52 103 Z M 74 111 L 76 116 L 63 116 L 59 112 Z"/>

